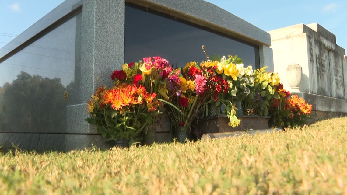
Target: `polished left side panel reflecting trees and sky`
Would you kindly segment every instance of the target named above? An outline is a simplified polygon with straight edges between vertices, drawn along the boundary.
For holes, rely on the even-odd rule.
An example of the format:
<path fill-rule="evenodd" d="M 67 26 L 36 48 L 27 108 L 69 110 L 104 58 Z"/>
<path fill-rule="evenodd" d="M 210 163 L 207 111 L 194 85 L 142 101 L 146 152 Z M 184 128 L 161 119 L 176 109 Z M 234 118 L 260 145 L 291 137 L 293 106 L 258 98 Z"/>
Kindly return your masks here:
<path fill-rule="evenodd" d="M 0 63 L 0 132 L 66 132 L 66 107 L 79 103 L 80 15 Z"/>

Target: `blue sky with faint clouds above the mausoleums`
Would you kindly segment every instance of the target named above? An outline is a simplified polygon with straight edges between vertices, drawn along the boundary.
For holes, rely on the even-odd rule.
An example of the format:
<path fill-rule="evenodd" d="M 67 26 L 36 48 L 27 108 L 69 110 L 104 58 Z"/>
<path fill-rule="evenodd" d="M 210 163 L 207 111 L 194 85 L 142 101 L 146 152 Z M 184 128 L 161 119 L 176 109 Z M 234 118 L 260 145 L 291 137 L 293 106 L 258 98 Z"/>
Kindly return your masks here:
<path fill-rule="evenodd" d="M 0 48 L 63 1 L 1 0 Z M 347 49 L 346 0 L 208 1 L 264 31 L 299 23 L 310 24 L 317 22 L 335 34 L 337 44 Z"/>

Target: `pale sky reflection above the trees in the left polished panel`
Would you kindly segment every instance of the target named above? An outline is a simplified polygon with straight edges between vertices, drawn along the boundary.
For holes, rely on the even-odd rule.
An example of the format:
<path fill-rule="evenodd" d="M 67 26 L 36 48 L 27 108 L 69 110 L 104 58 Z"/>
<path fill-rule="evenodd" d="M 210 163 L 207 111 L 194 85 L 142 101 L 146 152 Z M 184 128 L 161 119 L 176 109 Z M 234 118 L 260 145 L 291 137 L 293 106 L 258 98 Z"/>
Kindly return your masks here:
<path fill-rule="evenodd" d="M 76 17 L 1 62 L 0 86 L 11 83 L 20 71 L 24 71 L 43 78 L 61 78 L 66 87 L 75 79 L 75 40 Z"/>

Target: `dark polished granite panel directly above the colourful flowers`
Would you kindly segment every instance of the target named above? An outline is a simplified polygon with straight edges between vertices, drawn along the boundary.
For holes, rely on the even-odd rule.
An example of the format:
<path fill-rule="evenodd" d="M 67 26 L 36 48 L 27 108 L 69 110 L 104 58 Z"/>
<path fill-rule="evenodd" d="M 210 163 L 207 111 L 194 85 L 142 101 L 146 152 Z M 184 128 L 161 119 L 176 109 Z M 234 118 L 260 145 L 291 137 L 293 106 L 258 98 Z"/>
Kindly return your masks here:
<path fill-rule="evenodd" d="M 189 61 L 205 60 L 208 54 L 238 55 L 244 65 L 255 68 L 255 48 L 226 37 L 129 6 L 125 9 L 125 62 L 160 56 L 170 64 L 185 66 Z"/>

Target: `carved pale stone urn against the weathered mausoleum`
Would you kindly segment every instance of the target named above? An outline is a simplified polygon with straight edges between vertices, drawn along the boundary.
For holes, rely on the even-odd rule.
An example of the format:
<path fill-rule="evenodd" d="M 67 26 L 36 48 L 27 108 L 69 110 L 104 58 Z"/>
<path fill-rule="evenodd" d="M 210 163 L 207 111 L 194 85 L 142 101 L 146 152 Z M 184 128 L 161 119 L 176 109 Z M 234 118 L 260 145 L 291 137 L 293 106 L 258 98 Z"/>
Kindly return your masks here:
<path fill-rule="evenodd" d="M 287 73 L 287 81 L 289 86 L 291 87 L 291 93 L 298 93 L 300 80 L 303 74 L 303 68 L 298 64 L 288 65 L 286 68 Z"/>

